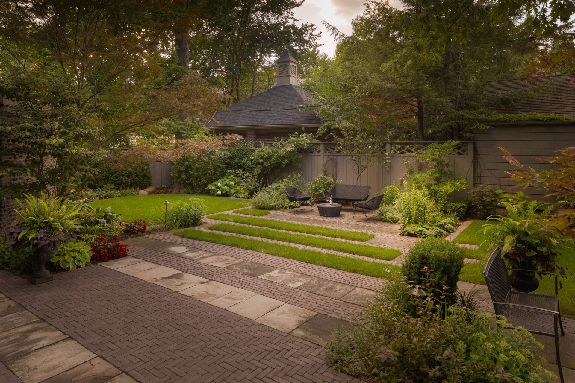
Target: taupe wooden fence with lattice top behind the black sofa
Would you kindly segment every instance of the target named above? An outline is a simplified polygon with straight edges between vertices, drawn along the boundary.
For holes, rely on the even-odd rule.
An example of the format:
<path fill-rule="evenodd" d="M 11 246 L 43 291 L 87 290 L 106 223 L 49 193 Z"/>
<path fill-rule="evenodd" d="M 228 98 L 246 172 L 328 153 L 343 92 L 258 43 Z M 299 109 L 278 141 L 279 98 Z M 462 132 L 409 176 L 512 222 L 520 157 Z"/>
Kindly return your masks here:
<path fill-rule="evenodd" d="M 391 185 L 393 181 L 402 187 L 405 173 L 412 169 L 415 172 L 427 171 L 424 164 L 416 161 L 416 154 L 421 153 L 427 145 L 440 141 L 405 141 L 383 142 L 376 148 L 377 156 L 373 163 L 356 180 L 354 163 L 348 160 L 348 155 L 338 152 L 337 144 L 333 142 L 315 142 L 302 152 L 301 168 L 291 168 L 288 173 L 302 172 L 302 183 L 315 180 L 317 175 L 327 175 L 344 184 L 370 185 L 371 196 L 378 189 Z M 454 151 L 446 156 L 447 161 L 454 164 L 456 177 L 467 181 L 467 189 L 457 192 L 455 199 L 467 198 L 473 189 L 473 142 L 460 141 Z"/>

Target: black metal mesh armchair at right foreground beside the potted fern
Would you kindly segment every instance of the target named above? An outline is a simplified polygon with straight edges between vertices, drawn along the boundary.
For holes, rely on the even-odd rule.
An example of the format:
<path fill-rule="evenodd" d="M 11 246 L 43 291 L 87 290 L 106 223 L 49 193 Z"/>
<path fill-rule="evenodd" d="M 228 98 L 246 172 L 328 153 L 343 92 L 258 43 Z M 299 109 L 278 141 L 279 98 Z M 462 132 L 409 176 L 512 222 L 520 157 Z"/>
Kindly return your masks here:
<path fill-rule="evenodd" d="M 524 269 L 513 270 L 530 271 Z M 561 312 L 559 311 L 557 274 L 545 272 L 542 272 L 542 274 L 555 276 L 554 296 L 512 291 L 509 287 L 511 281 L 505 261 L 501 257 L 500 247 L 493 250 L 483 269 L 483 275 L 485 276 L 485 282 L 489 289 L 496 315 L 505 316 L 512 326 L 521 326 L 535 334 L 555 337 L 555 354 L 557 355 L 559 378 L 561 378 L 563 383 L 557 322 L 559 322 L 559 327 L 561 328 L 561 335 L 565 335 L 565 332 L 563 331 Z"/>

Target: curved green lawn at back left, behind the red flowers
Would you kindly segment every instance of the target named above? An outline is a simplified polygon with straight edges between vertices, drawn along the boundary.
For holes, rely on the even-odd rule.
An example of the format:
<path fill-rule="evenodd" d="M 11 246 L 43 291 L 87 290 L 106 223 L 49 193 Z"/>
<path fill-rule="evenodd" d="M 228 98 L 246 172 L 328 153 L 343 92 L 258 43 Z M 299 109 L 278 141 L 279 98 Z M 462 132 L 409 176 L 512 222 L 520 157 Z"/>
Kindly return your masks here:
<path fill-rule="evenodd" d="M 213 214 L 220 211 L 228 211 L 241 207 L 250 206 L 250 200 L 226 197 L 214 197 L 210 195 L 194 194 L 155 194 L 145 196 L 127 196 L 110 199 L 102 199 L 92 202 L 93 207 L 112 207 L 113 212 L 122 215 L 124 222 L 131 222 L 134 219 L 146 220 L 150 215 L 164 215 L 164 201 L 170 203 L 187 200 L 190 198 L 200 198 L 208 207 L 206 214 Z"/>

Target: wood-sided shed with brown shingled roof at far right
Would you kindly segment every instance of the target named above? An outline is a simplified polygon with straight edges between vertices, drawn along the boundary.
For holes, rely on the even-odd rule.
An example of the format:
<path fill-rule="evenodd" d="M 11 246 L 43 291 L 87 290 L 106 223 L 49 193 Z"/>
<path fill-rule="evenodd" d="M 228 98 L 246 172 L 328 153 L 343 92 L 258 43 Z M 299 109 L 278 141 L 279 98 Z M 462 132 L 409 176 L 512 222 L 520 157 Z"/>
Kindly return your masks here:
<path fill-rule="evenodd" d="M 492 81 L 484 95 L 493 102 L 497 100 L 494 110 L 507 114 L 505 119 L 511 121 L 490 122 L 489 129 L 473 130 L 476 185 L 520 191 L 508 179 L 505 171 L 509 170 L 509 164 L 501 158 L 497 146 L 509 150 L 521 163 L 542 170 L 551 165 L 540 163 L 538 158 L 553 156 L 555 150 L 575 145 L 575 75 L 546 76 L 532 82 Z M 542 200 L 545 192 L 528 188 L 526 194 Z"/>

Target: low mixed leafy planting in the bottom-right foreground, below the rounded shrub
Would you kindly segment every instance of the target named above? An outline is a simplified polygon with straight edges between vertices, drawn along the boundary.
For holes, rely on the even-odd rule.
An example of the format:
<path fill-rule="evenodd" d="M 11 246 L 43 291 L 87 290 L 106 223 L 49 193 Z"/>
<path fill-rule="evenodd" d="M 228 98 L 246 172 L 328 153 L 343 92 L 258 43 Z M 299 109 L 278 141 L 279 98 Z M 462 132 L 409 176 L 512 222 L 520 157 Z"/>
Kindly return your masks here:
<path fill-rule="evenodd" d="M 399 273 L 348 326 L 339 327 L 325 347 L 329 366 L 369 382 L 548 382 L 536 352 L 543 346 L 524 328 L 503 317 L 447 308 L 443 289 L 429 283 L 432 270 L 414 285 Z M 425 295 L 423 294 L 425 293 Z M 416 316 L 398 295 L 408 296 Z M 446 312 L 448 315 L 446 315 Z"/>

